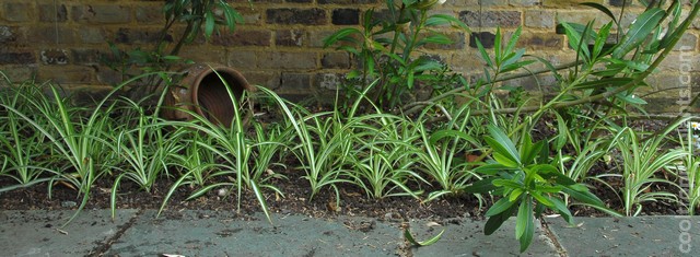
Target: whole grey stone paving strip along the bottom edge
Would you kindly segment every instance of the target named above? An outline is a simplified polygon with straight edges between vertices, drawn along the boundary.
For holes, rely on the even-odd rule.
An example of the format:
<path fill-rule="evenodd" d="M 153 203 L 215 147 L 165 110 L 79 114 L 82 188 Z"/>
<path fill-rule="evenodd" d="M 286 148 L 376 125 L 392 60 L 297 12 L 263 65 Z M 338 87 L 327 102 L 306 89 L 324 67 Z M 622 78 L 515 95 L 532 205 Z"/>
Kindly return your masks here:
<path fill-rule="evenodd" d="M 430 246 L 412 247 L 401 222 L 370 218 L 314 219 L 261 213 L 182 210 L 0 211 L 0 256 L 700 256 L 700 217 L 578 218 L 538 222 L 527 252 L 518 253 L 511 218 L 490 236 L 486 221 L 409 223 Z"/>

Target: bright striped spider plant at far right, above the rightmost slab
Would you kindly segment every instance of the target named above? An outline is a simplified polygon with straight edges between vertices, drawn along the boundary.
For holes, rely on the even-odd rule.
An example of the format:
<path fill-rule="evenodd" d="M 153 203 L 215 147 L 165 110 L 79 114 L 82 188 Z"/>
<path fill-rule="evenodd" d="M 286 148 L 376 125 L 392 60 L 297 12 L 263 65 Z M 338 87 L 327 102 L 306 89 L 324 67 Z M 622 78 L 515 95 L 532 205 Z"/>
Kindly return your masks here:
<path fill-rule="evenodd" d="M 615 142 L 615 147 L 622 156 L 622 180 L 625 184 L 622 201 L 625 213 L 628 217 L 640 214 L 642 203 L 648 201 L 678 200 L 678 197 L 672 192 L 652 190 L 652 186 L 667 184 L 672 187 L 678 187 L 668 179 L 658 178 L 657 175 L 662 170 L 668 171 L 667 167 L 688 155 L 688 152 L 682 149 L 664 149 L 664 142 L 668 141 L 667 135 L 685 121 L 687 119 L 681 119 L 662 133 L 645 141 L 640 140 L 638 133 L 629 127 L 618 132 L 620 137 Z"/>

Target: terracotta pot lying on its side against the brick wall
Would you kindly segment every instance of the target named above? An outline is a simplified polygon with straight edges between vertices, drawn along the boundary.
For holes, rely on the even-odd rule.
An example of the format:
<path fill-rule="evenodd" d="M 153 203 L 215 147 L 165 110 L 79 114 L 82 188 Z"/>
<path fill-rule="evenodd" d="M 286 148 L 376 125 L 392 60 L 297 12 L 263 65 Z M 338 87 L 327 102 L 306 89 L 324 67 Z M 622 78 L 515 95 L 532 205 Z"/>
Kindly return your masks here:
<path fill-rule="evenodd" d="M 241 72 L 220 63 L 197 63 L 186 69 L 184 75 L 182 82 L 171 86 L 165 96 L 163 117 L 166 119 L 190 120 L 191 115 L 183 112 L 187 109 L 228 127 L 233 120 L 234 109 L 226 85 L 238 104 L 244 91 L 255 91 Z"/>

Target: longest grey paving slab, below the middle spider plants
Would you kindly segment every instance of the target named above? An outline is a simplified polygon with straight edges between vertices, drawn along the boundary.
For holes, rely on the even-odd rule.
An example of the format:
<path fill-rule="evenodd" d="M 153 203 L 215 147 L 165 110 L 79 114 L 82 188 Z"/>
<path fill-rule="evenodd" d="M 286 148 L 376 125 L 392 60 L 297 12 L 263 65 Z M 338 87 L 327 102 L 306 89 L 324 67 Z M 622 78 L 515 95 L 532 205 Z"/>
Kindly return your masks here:
<path fill-rule="evenodd" d="M 398 223 L 368 218 L 332 220 L 299 214 L 241 218 L 231 211 L 145 211 L 106 256 L 396 256 Z"/>

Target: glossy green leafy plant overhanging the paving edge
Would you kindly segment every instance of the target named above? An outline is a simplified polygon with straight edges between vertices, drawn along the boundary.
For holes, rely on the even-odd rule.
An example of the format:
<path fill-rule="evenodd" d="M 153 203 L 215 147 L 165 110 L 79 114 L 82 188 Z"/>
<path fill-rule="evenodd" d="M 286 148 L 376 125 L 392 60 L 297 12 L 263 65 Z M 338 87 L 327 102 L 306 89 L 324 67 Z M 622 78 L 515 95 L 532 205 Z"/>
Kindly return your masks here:
<path fill-rule="evenodd" d="M 564 205 L 565 195 L 582 202 L 603 208 L 603 201 L 587 187 L 564 176 L 549 163 L 545 141 L 532 142 L 525 135 L 516 144 L 498 127 L 489 126 L 485 140 L 492 150 L 492 161 L 475 170 L 489 177 L 467 187 L 470 192 L 491 192 L 501 198 L 486 212 L 489 218 L 483 232 L 495 232 L 503 222 L 516 215 L 515 237 L 521 252 L 527 249 L 535 235 L 535 219 L 550 209 L 573 223 L 573 215 Z"/>

